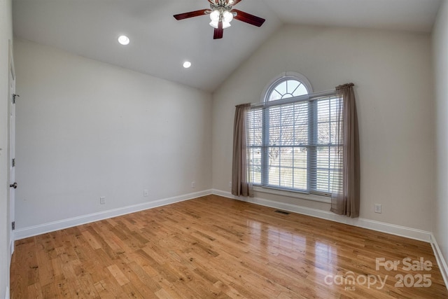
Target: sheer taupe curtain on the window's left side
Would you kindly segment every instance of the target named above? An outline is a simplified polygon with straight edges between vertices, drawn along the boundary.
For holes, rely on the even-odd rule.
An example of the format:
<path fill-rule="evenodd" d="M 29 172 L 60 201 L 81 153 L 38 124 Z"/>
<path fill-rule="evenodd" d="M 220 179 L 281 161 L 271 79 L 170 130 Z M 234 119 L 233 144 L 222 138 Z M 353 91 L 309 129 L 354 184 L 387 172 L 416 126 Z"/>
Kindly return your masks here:
<path fill-rule="evenodd" d="M 233 126 L 232 194 L 253 197 L 253 187 L 247 179 L 247 113 L 251 104 L 237 105 Z"/>

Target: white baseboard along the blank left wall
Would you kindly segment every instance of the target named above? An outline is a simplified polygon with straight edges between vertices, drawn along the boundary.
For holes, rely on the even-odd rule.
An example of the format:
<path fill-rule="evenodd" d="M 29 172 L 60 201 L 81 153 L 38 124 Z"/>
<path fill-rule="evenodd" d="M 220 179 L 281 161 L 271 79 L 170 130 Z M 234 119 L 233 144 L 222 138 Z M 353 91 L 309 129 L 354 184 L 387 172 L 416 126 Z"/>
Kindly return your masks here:
<path fill-rule="evenodd" d="M 53 221 L 50 223 L 44 223 L 41 225 L 34 225 L 28 228 L 20 228 L 14 231 L 15 239 L 25 239 L 27 237 L 34 237 L 36 235 L 42 235 L 47 232 L 54 232 L 55 230 L 62 230 L 64 228 L 71 228 L 76 225 L 82 225 L 85 223 L 91 223 L 94 221 L 103 220 L 106 218 L 112 218 L 125 214 L 134 213 L 137 211 L 143 211 L 146 209 L 152 209 L 155 207 L 165 206 L 167 204 L 174 204 L 175 202 L 183 202 L 185 200 L 191 200 L 193 198 L 210 195 L 211 190 L 203 190 L 196 193 L 189 193 L 186 195 L 179 195 L 175 197 L 169 197 L 162 200 L 155 200 L 151 202 L 145 202 L 143 204 L 134 204 L 128 207 L 121 207 L 118 209 L 111 209 L 108 211 L 101 211 L 94 214 L 88 214 L 73 218 L 64 219 L 61 221 Z"/>

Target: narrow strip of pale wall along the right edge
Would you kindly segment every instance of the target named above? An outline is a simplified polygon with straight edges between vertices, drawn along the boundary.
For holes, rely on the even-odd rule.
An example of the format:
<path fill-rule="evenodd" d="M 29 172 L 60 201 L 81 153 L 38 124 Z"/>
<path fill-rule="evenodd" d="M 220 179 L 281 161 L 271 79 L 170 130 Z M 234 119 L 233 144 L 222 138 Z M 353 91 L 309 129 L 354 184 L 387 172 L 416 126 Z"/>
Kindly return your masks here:
<path fill-rule="evenodd" d="M 433 31 L 437 188 L 433 233 L 448 261 L 448 1 L 442 1 Z"/>

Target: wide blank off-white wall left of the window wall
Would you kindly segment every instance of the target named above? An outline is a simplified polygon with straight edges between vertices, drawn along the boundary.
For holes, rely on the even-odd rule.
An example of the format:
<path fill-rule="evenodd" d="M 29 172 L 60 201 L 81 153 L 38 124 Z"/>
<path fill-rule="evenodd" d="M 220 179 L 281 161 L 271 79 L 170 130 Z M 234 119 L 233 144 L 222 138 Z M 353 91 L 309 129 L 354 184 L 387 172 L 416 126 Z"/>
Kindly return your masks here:
<path fill-rule="evenodd" d="M 29 41 L 15 60 L 16 228 L 211 188 L 209 93 Z"/>

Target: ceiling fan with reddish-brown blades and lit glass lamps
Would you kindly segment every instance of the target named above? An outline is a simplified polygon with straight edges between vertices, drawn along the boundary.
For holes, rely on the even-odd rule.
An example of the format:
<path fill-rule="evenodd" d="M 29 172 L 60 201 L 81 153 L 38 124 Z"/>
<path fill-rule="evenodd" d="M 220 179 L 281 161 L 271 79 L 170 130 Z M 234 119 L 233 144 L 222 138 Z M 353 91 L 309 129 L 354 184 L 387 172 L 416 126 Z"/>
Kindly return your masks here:
<path fill-rule="evenodd" d="M 210 9 L 202 9 L 200 11 L 190 11 L 189 13 L 179 13 L 173 15 L 176 20 L 183 20 L 200 15 L 210 15 L 210 26 L 214 27 L 214 39 L 222 39 L 224 29 L 230 27 L 230 22 L 233 19 L 246 22 L 248 24 L 260 27 L 265 22 L 265 19 L 259 18 L 250 13 L 244 13 L 234 9 L 233 6 L 239 4 L 241 0 L 207 0 L 210 2 Z"/>

